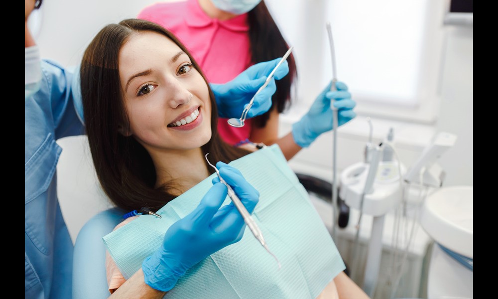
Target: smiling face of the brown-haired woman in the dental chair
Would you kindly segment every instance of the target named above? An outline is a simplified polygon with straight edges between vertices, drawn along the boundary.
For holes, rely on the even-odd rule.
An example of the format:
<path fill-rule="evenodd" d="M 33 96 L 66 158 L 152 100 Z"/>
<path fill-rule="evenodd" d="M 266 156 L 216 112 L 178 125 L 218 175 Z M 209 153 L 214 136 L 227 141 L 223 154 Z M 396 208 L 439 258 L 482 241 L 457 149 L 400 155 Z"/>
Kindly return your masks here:
<path fill-rule="evenodd" d="M 120 50 L 119 68 L 130 122 L 123 135 L 133 135 L 149 153 L 209 142 L 208 86 L 171 39 L 148 31 L 132 35 Z"/>

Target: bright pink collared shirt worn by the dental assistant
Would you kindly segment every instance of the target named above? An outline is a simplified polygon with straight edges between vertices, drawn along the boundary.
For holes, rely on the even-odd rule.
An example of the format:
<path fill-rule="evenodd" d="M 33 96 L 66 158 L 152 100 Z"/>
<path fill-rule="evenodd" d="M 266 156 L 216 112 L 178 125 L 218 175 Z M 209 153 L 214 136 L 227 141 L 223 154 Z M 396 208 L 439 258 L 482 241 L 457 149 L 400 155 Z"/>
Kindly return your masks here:
<path fill-rule="evenodd" d="M 210 83 L 226 83 L 251 65 L 247 13 L 220 21 L 210 18 L 198 0 L 155 3 L 138 13 L 171 31 L 191 52 Z M 242 111 L 241 111 L 242 114 Z M 251 120 L 234 128 L 218 121 L 221 138 L 234 145 L 249 138 Z"/>

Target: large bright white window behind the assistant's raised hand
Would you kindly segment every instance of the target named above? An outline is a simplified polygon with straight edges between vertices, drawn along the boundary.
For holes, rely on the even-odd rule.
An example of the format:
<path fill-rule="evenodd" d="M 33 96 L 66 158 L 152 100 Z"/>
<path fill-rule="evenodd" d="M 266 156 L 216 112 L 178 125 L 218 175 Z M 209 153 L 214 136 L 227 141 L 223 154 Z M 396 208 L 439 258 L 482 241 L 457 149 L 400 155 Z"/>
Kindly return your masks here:
<path fill-rule="evenodd" d="M 309 106 L 332 77 L 326 30 L 330 21 L 338 80 L 348 84 L 359 115 L 435 122 L 443 0 L 265 2 L 295 48 L 296 109 Z"/>

